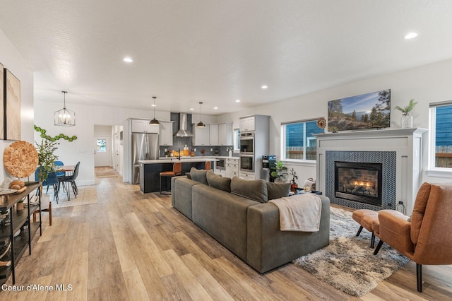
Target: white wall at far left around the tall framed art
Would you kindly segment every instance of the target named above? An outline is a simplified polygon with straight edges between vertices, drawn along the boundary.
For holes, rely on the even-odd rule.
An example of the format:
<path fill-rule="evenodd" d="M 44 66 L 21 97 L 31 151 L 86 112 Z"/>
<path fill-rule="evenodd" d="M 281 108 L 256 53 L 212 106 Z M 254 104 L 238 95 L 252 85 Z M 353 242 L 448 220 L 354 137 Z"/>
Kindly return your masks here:
<path fill-rule="evenodd" d="M 20 140 L 33 143 L 33 73 L 6 35 L 0 30 L 0 63 L 20 80 Z M 3 83 L 1 83 L 3 84 Z M 14 141 L 0 140 L 0 152 Z M 0 182 L 11 177 L 0 160 Z M 30 177 L 34 181 L 35 176 Z"/>

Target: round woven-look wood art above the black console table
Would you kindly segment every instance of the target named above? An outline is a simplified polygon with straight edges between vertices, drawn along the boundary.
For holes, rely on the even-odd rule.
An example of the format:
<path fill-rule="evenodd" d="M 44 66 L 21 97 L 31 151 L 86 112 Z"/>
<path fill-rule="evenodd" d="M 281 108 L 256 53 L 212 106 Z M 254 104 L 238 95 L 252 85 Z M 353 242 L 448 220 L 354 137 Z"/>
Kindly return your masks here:
<path fill-rule="evenodd" d="M 16 141 L 5 148 L 3 163 L 13 177 L 28 177 L 35 172 L 38 156 L 35 146 L 27 141 Z"/>

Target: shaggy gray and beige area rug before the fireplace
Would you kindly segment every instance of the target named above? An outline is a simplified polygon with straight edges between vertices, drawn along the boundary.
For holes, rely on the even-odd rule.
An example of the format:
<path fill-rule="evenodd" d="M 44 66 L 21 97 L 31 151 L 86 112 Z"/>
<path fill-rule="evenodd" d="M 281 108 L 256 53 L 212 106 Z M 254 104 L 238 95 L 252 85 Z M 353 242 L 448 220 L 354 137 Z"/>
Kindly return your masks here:
<path fill-rule="evenodd" d="M 358 228 L 350 211 L 331 207 L 330 244 L 294 263 L 344 293 L 366 295 L 409 259 L 387 244 L 374 256 L 371 234 L 364 229 L 356 237 Z"/>

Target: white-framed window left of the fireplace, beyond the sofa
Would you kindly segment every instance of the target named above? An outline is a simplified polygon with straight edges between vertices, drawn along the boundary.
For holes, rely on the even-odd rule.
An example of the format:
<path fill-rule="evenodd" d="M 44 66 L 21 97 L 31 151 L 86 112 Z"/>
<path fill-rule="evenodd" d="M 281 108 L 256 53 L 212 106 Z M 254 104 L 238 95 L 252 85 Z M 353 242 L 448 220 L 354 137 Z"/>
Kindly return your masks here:
<path fill-rule="evenodd" d="M 283 160 L 316 160 L 317 140 L 314 134 L 323 133 L 316 120 L 283 124 Z"/>

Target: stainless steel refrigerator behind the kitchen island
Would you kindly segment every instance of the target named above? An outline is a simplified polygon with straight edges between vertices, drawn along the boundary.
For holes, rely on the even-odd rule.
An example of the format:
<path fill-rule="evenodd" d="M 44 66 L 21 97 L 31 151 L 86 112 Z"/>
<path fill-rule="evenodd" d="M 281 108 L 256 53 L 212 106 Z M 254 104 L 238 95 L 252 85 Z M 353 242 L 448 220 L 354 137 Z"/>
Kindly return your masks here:
<path fill-rule="evenodd" d="M 140 183 L 138 160 L 157 160 L 159 153 L 158 134 L 132 133 L 132 184 Z"/>

